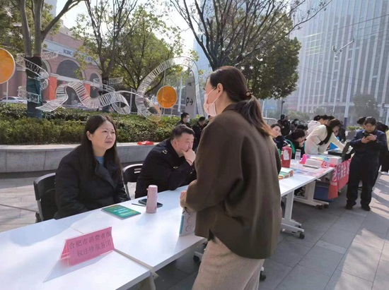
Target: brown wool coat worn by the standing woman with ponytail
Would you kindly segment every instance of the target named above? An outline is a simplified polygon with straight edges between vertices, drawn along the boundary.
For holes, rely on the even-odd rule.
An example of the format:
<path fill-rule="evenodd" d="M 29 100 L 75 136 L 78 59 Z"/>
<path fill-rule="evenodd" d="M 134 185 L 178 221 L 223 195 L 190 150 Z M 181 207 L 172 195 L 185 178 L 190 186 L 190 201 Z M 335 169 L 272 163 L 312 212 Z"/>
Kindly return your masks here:
<path fill-rule="evenodd" d="M 281 226 L 281 161 L 272 138 L 234 108 L 204 128 L 185 203 L 197 212 L 197 236 L 214 234 L 237 255 L 268 258 Z"/>

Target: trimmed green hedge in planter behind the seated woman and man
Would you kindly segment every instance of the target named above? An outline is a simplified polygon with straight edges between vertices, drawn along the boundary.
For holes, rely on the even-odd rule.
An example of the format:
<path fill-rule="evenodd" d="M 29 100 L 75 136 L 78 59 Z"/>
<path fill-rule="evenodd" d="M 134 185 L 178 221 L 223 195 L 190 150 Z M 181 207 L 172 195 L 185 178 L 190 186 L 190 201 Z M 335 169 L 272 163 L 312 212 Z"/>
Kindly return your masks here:
<path fill-rule="evenodd" d="M 23 104 L 0 103 L 0 144 L 70 144 L 79 143 L 88 116 L 102 114 L 95 111 L 57 109 L 45 113 L 44 119 L 27 118 Z M 177 117 L 163 117 L 158 123 L 142 116 L 110 114 L 117 126 L 117 142 L 161 141 L 179 121 Z"/>

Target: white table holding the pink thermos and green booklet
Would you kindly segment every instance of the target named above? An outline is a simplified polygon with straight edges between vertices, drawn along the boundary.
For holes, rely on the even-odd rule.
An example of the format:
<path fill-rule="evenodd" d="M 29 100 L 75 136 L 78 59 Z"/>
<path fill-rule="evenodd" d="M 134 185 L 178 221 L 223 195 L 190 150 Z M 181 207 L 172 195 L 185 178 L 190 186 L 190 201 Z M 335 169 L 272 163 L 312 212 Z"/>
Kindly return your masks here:
<path fill-rule="evenodd" d="M 158 207 L 155 214 L 146 213 L 146 207 L 133 205 L 137 200 L 129 200 L 121 205 L 141 215 L 120 219 L 102 210 L 93 210 L 58 221 L 82 233 L 112 226 L 115 250 L 155 272 L 205 241 L 194 234 L 179 236 L 180 193 L 185 188 L 187 186 L 158 193 L 158 203 L 163 206 Z"/>

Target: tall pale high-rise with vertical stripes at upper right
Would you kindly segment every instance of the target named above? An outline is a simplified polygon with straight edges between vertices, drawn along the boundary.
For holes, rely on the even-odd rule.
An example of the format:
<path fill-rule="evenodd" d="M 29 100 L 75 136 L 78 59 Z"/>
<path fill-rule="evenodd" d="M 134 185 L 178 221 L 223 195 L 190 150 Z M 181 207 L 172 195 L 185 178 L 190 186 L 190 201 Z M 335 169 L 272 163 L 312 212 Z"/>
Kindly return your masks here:
<path fill-rule="evenodd" d="M 294 32 L 302 48 L 298 88 L 286 99 L 289 109 L 314 113 L 322 107 L 343 119 L 349 93 L 349 121 L 357 117 L 355 95 L 373 95 L 383 116 L 382 104 L 389 103 L 388 2 L 333 0 Z"/>

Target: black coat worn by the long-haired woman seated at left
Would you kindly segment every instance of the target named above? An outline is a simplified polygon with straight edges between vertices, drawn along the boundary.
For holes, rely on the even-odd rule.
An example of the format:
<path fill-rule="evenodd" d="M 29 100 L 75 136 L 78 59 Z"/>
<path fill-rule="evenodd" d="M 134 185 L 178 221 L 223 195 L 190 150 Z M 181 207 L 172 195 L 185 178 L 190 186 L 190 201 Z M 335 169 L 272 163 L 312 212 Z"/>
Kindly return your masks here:
<path fill-rule="evenodd" d="M 77 215 L 100 207 L 122 203 L 127 194 L 122 178 L 115 179 L 117 167 L 107 164 L 107 168 L 96 161 L 93 174 L 87 176 L 81 170 L 79 148 L 76 148 L 59 163 L 55 174 L 55 199 L 58 212 L 54 219 Z"/>

